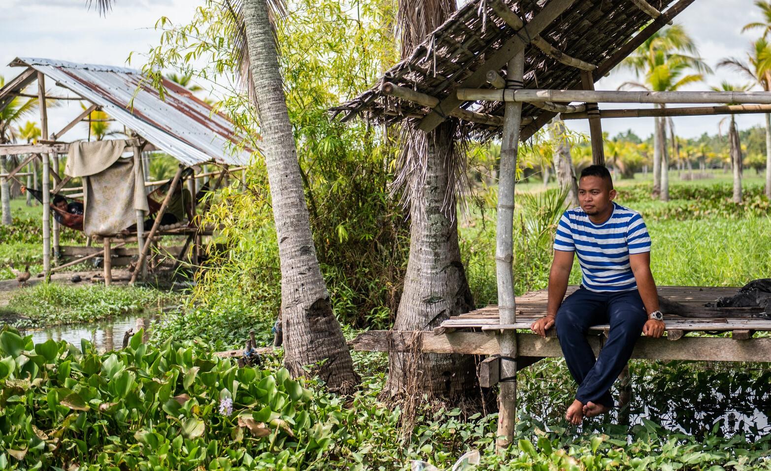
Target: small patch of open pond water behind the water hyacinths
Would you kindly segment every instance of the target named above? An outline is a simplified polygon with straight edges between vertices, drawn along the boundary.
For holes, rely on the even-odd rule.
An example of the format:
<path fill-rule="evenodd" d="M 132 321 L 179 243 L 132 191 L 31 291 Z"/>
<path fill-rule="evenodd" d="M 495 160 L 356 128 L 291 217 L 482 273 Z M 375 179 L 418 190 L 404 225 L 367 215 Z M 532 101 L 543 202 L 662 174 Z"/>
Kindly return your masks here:
<path fill-rule="evenodd" d="M 134 316 L 116 317 L 89 324 L 71 324 L 67 326 L 52 326 L 45 329 L 29 329 L 24 335 L 32 335 L 35 343 L 53 339 L 56 342 L 66 340 L 72 345 L 80 346 L 80 339 L 90 340 L 99 350 L 113 350 L 123 347 L 123 336 L 128 329 L 136 332 L 136 319 L 143 319 L 145 326 L 156 316 L 140 312 Z M 146 329 L 146 327 L 145 327 Z"/>

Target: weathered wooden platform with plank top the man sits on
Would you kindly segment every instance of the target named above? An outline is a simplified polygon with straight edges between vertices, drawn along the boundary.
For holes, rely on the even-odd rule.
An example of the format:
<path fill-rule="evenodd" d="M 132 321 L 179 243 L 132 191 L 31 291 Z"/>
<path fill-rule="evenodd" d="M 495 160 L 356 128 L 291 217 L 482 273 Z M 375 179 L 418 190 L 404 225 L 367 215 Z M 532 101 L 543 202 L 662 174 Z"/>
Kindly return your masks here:
<path fill-rule="evenodd" d="M 568 288 L 570 294 L 577 286 Z M 733 296 L 738 288 L 700 286 L 659 286 L 658 294 L 672 301 L 703 306 L 721 296 Z M 546 290 L 517 297 L 517 320 L 501 324 L 497 306 L 487 306 L 453 316 L 436 329 L 426 332 L 373 330 L 362 332 L 351 345 L 365 352 L 460 353 L 490 356 L 480 365 L 480 382 L 485 387 L 497 383 L 500 340 L 505 332 L 515 338 L 517 371 L 540 359 L 561 357 L 562 350 L 554 329 L 546 338 L 530 332 L 530 324 L 546 313 Z M 749 308 L 736 308 L 749 309 Z M 756 311 L 758 309 L 755 309 Z M 641 337 L 635 344 L 633 359 L 704 360 L 716 362 L 771 362 L 771 337 L 754 337 L 756 332 L 771 332 L 771 320 L 745 318 L 678 318 L 666 316 L 666 336 L 661 339 Z M 594 353 L 604 345 L 609 326 L 594 326 L 588 340 Z M 722 333 L 731 336 L 685 336 L 688 332 Z"/>

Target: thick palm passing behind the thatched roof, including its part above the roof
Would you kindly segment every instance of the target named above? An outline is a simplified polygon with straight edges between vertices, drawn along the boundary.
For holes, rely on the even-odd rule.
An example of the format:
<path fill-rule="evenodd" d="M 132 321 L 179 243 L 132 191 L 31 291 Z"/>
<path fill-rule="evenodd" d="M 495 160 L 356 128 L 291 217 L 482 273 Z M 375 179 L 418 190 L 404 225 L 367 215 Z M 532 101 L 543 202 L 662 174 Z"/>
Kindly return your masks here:
<path fill-rule="evenodd" d="M 456 9 L 455 0 L 400 0 L 397 24 L 402 58 L 412 54 L 430 32 Z M 425 134 L 402 128 L 400 172 L 396 183 L 409 205 L 409 259 L 394 329 L 427 330 L 473 307 L 460 259 L 456 218 L 456 175 L 463 162 L 448 121 Z M 389 353 L 385 391 L 429 396 L 464 396 L 474 390 L 474 361 L 469 356 Z"/>

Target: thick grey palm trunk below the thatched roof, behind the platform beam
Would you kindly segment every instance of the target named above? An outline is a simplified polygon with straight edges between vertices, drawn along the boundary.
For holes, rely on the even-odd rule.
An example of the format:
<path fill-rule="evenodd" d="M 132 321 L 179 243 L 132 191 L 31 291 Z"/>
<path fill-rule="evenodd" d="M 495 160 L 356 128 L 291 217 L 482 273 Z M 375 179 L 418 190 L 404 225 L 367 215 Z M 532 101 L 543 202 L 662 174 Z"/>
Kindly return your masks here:
<path fill-rule="evenodd" d="M 410 202 L 410 241 L 404 291 L 393 328 L 424 331 L 473 307 L 460 260 L 456 201 L 448 192 L 454 125 L 412 133 L 412 149 L 425 152 L 425 177 Z M 477 391 L 472 356 L 390 353 L 386 392 L 391 396 L 453 398 Z"/>

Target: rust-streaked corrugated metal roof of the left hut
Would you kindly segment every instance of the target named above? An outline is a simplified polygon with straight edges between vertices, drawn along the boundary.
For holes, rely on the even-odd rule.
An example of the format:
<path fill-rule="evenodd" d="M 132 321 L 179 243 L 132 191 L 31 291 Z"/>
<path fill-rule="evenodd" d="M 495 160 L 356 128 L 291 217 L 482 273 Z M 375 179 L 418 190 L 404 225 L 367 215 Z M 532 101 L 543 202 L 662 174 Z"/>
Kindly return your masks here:
<path fill-rule="evenodd" d="M 249 152 L 234 149 L 233 124 L 169 80 L 163 81 L 166 93 L 161 100 L 157 90 L 141 82 L 141 72 L 131 68 L 25 57 L 11 65 L 29 65 L 42 72 L 185 165 L 212 159 L 232 165 L 249 163 Z"/>

